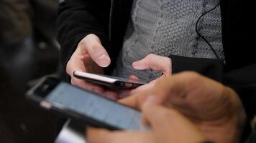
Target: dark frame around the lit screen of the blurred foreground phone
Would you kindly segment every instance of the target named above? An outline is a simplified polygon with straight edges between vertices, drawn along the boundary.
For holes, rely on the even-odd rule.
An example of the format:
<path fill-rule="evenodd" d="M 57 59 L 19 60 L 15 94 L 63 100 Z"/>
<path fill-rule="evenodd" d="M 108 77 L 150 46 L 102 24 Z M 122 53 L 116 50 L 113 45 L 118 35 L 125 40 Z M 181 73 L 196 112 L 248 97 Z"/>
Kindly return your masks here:
<path fill-rule="evenodd" d="M 74 112 L 73 110 L 65 108 L 63 105 L 55 104 L 55 103 L 48 102 L 47 100 L 45 100 L 45 97 L 47 97 L 47 94 L 50 94 L 50 92 L 47 93 L 47 94 L 37 94 L 38 92 L 35 92 L 35 91 L 37 91 L 37 89 L 40 87 L 40 85 L 44 84 L 44 82 L 46 82 L 49 79 L 55 80 L 54 87 L 57 87 L 58 84 L 60 84 L 60 82 L 61 82 L 60 80 L 55 79 L 53 77 L 45 77 L 37 85 L 35 85 L 35 87 L 30 89 L 29 92 L 27 92 L 27 99 L 31 100 L 32 102 L 35 102 L 37 104 L 37 106 L 40 106 L 43 109 L 46 109 L 46 110 L 52 111 L 52 112 L 56 112 L 56 113 L 58 113 L 60 115 L 63 115 L 65 117 L 71 117 L 71 118 L 76 119 L 80 122 L 83 122 L 84 124 L 89 124 L 92 127 L 101 127 L 101 128 L 106 128 L 106 129 L 110 129 L 110 130 L 122 130 L 122 129 L 119 129 L 118 127 L 114 127 L 114 126 L 111 126 L 109 124 L 106 124 L 105 122 L 101 122 L 99 120 L 93 119 L 92 117 L 88 117 L 85 114 L 79 114 L 78 112 Z M 70 86 L 73 86 L 73 85 L 70 84 Z M 73 86 L 73 87 L 75 87 L 75 86 Z M 80 87 L 75 87 L 75 88 L 82 89 Z M 85 91 L 85 92 L 90 92 L 90 91 L 87 91 L 85 89 L 82 89 L 82 90 Z M 114 102 L 113 100 L 108 99 L 106 97 L 102 97 L 101 95 L 96 94 L 94 92 L 90 92 L 90 94 L 93 94 L 94 96 L 104 98 L 104 99 L 108 100 L 109 102 Z M 45 106 L 45 103 L 50 104 L 50 105 Z M 135 109 L 133 107 L 128 107 L 124 104 L 120 104 L 119 102 L 114 102 L 114 103 L 119 104 L 123 107 L 133 109 L 137 112 L 140 112 L 138 109 Z"/>

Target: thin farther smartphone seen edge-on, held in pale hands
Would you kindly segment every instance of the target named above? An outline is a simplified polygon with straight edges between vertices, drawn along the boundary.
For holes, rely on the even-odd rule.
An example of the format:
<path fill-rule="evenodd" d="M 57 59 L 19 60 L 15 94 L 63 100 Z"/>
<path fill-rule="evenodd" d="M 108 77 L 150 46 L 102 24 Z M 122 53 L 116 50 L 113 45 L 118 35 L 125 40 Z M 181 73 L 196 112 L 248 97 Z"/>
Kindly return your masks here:
<path fill-rule="evenodd" d="M 86 80 L 86 82 L 91 82 L 93 84 L 99 84 L 104 87 L 114 89 L 134 89 L 146 84 L 146 82 L 134 82 L 132 80 L 124 79 L 121 77 L 91 74 L 83 71 L 74 71 L 73 75 L 78 79 Z"/>

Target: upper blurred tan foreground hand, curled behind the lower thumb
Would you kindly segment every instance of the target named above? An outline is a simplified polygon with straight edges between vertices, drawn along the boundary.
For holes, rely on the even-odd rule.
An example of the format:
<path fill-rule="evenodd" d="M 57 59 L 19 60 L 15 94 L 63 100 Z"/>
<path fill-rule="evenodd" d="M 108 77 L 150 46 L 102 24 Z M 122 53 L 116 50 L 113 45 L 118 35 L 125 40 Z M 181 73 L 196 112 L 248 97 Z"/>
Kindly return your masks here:
<path fill-rule="evenodd" d="M 150 95 L 156 97 L 157 104 L 191 119 L 207 139 L 239 142 L 245 114 L 237 94 L 229 87 L 194 72 L 183 72 L 161 79 L 152 89 L 120 102 L 142 109 Z"/>

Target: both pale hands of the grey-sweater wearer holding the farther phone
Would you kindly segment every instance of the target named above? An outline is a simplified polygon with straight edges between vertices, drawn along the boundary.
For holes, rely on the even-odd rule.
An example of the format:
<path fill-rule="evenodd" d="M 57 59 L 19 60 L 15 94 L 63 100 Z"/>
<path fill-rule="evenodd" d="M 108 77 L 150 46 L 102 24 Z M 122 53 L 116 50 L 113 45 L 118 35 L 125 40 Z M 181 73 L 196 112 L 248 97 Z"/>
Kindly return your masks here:
<path fill-rule="evenodd" d="M 111 59 L 109 54 L 104 49 L 104 46 L 101 45 L 101 41 L 98 36 L 95 34 L 88 34 L 84 37 L 78 44 L 76 51 L 70 57 L 68 61 L 66 72 L 71 77 L 71 84 L 84 89 L 88 89 L 91 92 L 97 92 L 99 94 L 108 97 L 109 99 L 119 99 L 127 97 L 129 94 L 134 94 L 145 89 L 152 87 L 152 84 L 155 81 L 141 86 L 134 90 L 122 90 L 122 91 L 113 91 L 110 89 L 104 89 L 97 84 L 92 84 L 85 82 L 81 79 L 73 77 L 73 71 L 84 71 L 93 74 L 104 74 L 104 67 L 109 66 Z M 162 71 L 164 75 L 169 75 L 171 73 L 171 61 L 170 58 L 164 56 L 157 56 L 155 54 L 149 54 L 144 59 L 140 61 L 135 61 L 132 66 L 134 69 L 143 70 L 143 69 L 154 69 L 157 71 Z M 136 76 L 131 75 L 129 79 L 134 81 L 139 81 Z"/>

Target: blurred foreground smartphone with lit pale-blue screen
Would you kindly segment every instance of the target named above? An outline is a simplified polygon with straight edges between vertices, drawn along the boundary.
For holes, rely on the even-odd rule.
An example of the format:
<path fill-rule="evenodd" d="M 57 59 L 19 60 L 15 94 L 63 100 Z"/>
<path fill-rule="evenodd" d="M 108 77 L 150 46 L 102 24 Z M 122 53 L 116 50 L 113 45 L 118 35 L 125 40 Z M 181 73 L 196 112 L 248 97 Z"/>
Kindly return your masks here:
<path fill-rule="evenodd" d="M 93 127 L 142 129 L 142 114 L 137 109 L 53 77 L 42 79 L 27 92 L 27 98 L 44 109 L 78 119 Z"/>

